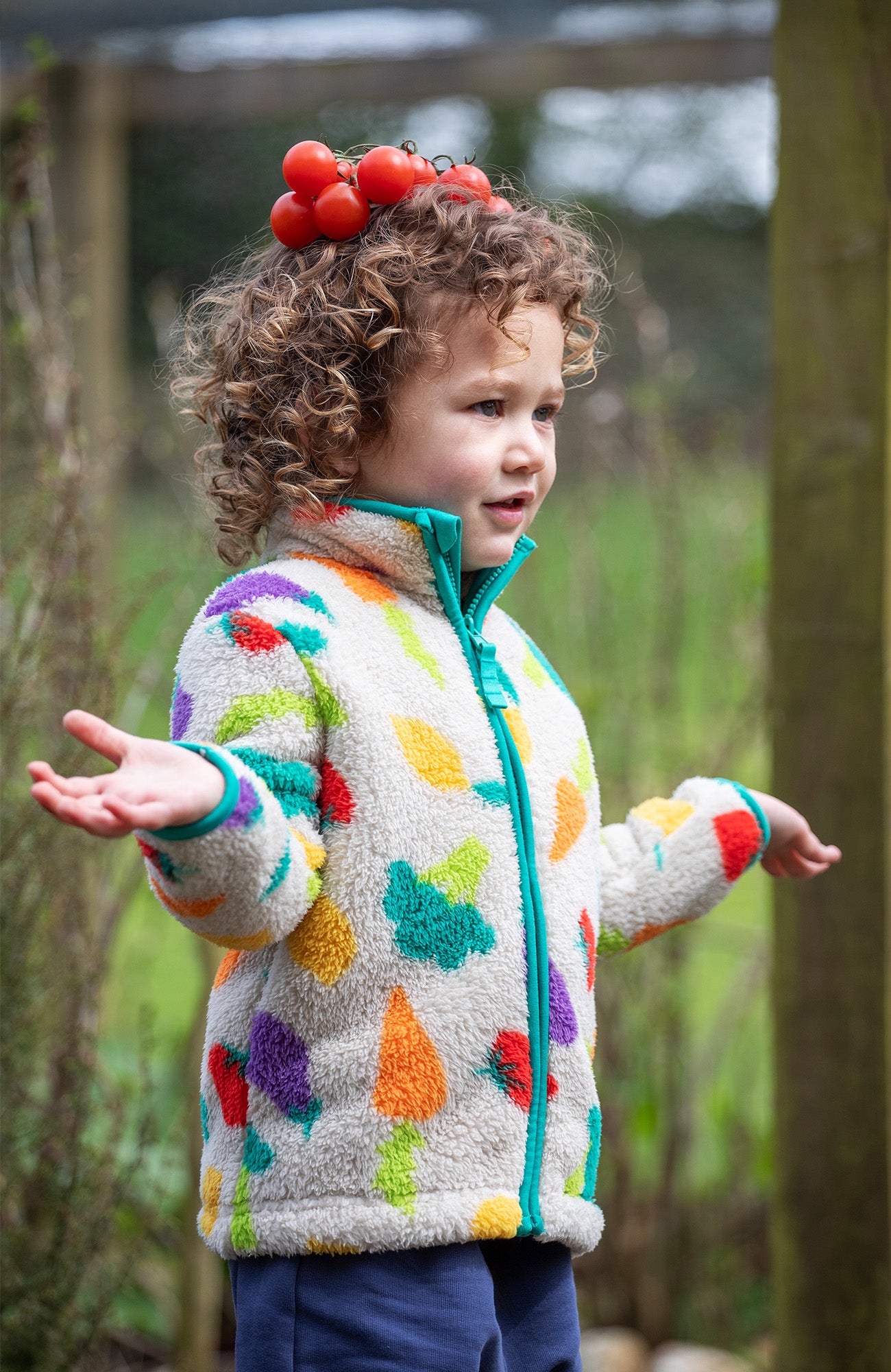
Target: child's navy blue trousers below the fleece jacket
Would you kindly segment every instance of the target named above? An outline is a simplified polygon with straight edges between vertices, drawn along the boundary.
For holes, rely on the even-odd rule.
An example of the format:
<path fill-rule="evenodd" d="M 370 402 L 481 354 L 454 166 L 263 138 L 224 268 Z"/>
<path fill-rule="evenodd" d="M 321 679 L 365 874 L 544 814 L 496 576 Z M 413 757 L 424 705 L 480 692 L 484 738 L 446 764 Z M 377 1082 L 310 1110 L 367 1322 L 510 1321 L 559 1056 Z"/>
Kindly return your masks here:
<path fill-rule="evenodd" d="M 236 1372 L 581 1372 L 562 1243 L 239 1258 L 229 1272 Z"/>

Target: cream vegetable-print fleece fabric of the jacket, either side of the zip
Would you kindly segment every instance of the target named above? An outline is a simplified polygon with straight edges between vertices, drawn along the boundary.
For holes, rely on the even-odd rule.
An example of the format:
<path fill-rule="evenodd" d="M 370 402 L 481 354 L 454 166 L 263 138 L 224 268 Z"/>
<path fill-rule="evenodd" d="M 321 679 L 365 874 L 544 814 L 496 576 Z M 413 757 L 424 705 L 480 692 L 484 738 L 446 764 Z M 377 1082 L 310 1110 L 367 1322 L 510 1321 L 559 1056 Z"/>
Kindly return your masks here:
<path fill-rule="evenodd" d="M 178 659 L 171 738 L 228 774 L 219 822 L 137 834 L 158 899 L 228 949 L 200 1232 L 223 1257 L 513 1236 L 541 1139 L 536 973 L 492 723 L 417 524 L 336 506 L 274 538 L 208 597 Z M 747 792 L 700 777 L 600 833 L 578 709 L 513 620 L 492 608 L 483 627 L 547 929 L 533 1232 L 580 1254 L 602 1229 L 596 951 L 705 914 L 766 833 Z"/>

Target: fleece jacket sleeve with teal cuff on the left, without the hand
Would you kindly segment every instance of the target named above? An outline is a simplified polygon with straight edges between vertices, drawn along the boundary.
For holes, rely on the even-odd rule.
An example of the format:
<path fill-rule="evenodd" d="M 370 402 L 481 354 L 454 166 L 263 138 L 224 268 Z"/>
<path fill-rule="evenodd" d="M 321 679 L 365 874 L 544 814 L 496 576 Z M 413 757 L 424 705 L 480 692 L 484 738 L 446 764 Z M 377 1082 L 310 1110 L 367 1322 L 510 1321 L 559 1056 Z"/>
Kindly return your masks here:
<path fill-rule="evenodd" d="M 314 659 L 329 624 L 293 601 L 212 606 L 180 650 L 170 737 L 219 767 L 225 794 L 193 825 L 136 838 L 170 914 L 222 948 L 255 949 L 289 934 L 321 889 L 324 735 L 339 707 Z"/>

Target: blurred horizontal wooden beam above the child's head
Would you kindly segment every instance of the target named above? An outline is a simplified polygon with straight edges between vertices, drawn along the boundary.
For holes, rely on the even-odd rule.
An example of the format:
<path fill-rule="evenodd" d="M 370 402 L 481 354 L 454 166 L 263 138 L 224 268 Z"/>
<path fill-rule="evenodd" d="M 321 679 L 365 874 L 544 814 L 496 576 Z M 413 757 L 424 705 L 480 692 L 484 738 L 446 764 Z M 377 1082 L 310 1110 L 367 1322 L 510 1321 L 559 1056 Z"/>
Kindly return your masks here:
<path fill-rule="evenodd" d="M 535 99 L 546 91 L 614 91 L 663 82 L 721 85 L 768 75 L 770 38 L 661 37 L 598 45 L 492 44 L 462 52 L 374 62 L 269 63 L 263 67 L 136 67 L 134 123 L 274 119 L 330 100 Z"/>

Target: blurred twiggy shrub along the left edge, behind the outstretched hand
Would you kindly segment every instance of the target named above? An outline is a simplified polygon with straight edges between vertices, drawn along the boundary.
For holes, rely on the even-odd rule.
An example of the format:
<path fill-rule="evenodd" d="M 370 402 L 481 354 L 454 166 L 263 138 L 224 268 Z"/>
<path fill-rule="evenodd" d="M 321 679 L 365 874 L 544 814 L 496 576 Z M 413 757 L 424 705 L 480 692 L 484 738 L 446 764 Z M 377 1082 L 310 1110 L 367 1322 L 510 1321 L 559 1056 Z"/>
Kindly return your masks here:
<path fill-rule="evenodd" d="M 26 446 L 30 468 L 4 512 L 1 686 L 0 1264 L 4 1362 L 22 1372 L 73 1368 L 96 1340 L 123 1279 L 115 1240 L 148 1103 L 143 1080 L 118 1089 L 96 1055 L 108 949 L 136 863 L 44 814 L 25 771 L 41 757 L 63 775 L 84 770 L 62 715 L 77 704 L 107 716 L 118 683 L 45 148 L 42 117 L 29 118 L 4 167 L 3 347 L 18 381 L 7 438 Z"/>

